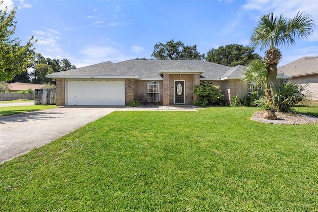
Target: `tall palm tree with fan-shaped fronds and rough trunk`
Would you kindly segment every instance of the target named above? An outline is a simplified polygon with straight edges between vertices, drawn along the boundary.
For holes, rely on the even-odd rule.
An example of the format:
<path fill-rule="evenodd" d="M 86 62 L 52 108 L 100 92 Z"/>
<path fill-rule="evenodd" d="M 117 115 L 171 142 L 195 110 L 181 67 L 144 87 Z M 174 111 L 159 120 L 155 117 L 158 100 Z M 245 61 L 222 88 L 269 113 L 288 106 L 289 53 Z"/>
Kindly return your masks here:
<path fill-rule="evenodd" d="M 275 16 L 273 12 L 264 15 L 254 28 L 251 36 L 253 47 L 260 47 L 265 51 L 264 62 L 268 70 L 268 81 L 271 95 L 277 84 L 277 64 L 282 53 L 277 47 L 295 45 L 295 39 L 308 38 L 314 27 L 311 15 L 298 12 L 293 19 L 287 19 L 283 15 Z"/>

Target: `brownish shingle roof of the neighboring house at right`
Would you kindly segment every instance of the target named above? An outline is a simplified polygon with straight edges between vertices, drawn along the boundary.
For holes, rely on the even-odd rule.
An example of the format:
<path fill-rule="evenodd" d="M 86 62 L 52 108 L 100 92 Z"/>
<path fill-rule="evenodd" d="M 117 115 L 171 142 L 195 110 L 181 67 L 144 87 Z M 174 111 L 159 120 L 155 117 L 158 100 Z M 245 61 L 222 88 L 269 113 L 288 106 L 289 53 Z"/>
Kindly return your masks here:
<path fill-rule="evenodd" d="M 277 68 L 277 73 L 294 77 L 318 74 L 318 57 L 302 57 Z"/>

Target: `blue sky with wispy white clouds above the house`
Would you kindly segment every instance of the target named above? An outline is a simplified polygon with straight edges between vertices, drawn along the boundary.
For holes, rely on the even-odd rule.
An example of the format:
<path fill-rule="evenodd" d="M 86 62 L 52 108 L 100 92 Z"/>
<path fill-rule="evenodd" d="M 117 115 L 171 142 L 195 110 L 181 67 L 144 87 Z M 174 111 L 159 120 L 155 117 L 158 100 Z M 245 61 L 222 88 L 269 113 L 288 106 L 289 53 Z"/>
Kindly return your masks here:
<path fill-rule="evenodd" d="M 21 44 L 33 35 L 36 52 L 67 58 L 78 68 L 150 59 L 156 43 L 171 39 L 197 45 L 201 54 L 227 44 L 249 45 L 253 28 L 269 12 L 292 18 L 305 11 L 317 25 L 309 39 L 280 48 L 279 66 L 318 55 L 315 0 L 4 0 L 4 5 L 18 7 L 15 37 Z"/>

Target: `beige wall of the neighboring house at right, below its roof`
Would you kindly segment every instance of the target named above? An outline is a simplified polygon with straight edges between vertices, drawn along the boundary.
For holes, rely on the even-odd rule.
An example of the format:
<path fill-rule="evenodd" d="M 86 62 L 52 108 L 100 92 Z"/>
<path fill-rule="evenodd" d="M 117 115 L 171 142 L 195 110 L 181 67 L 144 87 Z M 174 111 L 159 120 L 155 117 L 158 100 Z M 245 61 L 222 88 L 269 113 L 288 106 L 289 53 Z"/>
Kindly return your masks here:
<path fill-rule="evenodd" d="M 297 82 L 303 86 L 308 83 L 308 91 L 310 92 L 311 100 L 318 100 L 318 74 L 303 77 L 292 77 L 290 81 Z"/>

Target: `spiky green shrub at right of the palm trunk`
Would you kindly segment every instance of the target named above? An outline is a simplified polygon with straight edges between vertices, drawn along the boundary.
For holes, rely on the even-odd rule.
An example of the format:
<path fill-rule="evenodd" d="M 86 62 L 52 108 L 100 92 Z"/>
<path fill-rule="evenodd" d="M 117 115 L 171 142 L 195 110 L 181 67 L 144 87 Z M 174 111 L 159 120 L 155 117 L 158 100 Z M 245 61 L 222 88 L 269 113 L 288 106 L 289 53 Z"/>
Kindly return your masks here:
<path fill-rule="evenodd" d="M 273 103 L 281 112 L 295 113 L 297 104 L 308 105 L 308 84 L 280 83 L 274 89 Z"/>

